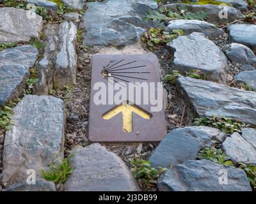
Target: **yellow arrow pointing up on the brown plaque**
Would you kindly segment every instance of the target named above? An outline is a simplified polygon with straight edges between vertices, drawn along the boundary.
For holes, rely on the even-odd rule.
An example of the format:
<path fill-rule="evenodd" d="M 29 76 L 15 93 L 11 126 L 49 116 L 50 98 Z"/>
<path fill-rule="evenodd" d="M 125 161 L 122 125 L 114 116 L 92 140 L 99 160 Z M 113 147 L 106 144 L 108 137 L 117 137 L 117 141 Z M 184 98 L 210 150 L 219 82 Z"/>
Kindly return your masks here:
<path fill-rule="evenodd" d="M 120 112 L 122 112 L 123 130 L 125 133 L 131 133 L 132 131 L 132 112 L 140 115 L 140 117 L 143 117 L 143 119 L 146 120 L 149 120 L 152 117 L 151 113 L 148 113 L 137 105 L 122 104 L 115 106 L 108 112 L 104 113 L 102 115 L 102 119 L 109 120 Z"/>

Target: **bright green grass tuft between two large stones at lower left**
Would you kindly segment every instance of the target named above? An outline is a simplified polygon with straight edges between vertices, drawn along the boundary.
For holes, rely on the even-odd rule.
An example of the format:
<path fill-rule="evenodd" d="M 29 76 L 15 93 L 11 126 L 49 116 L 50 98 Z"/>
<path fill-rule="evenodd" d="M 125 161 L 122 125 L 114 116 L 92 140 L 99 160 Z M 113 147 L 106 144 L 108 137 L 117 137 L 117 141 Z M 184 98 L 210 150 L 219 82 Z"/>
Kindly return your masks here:
<path fill-rule="evenodd" d="M 43 178 L 55 184 L 64 184 L 72 172 L 71 157 L 72 154 L 65 159 L 58 156 L 54 163 L 49 164 L 48 171 L 42 170 Z"/>

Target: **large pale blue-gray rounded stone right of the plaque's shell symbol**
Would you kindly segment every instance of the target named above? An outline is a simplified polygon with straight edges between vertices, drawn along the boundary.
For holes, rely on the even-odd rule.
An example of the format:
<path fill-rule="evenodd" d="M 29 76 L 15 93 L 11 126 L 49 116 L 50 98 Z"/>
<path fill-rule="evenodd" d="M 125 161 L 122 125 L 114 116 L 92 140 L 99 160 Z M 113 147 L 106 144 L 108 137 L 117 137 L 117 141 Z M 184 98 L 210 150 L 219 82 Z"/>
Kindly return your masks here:
<path fill-rule="evenodd" d="M 214 82 L 225 83 L 228 67 L 227 57 L 220 48 L 211 40 L 205 38 L 202 33 L 192 33 L 168 43 L 168 47 L 174 51 L 173 69 L 189 71 L 200 69 L 207 75 L 207 79 Z"/>

